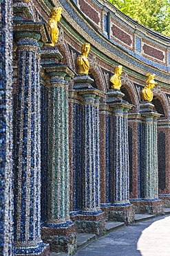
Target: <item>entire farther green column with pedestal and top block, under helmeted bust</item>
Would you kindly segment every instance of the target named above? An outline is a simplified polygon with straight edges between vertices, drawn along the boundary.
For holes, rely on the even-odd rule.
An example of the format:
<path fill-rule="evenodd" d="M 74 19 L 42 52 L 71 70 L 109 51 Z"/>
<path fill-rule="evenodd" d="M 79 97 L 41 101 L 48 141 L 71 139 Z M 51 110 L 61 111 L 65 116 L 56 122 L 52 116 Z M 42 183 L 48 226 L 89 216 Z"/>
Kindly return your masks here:
<path fill-rule="evenodd" d="M 140 201 L 133 201 L 136 211 L 142 213 L 162 213 L 162 203 L 158 199 L 158 147 L 157 119 L 160 114 L 153 111 L 153 104 L 142 102 L 140 113 L 142 129 L 140 129 Z M 142 154 L 141 154 L 142 152 Z"/>

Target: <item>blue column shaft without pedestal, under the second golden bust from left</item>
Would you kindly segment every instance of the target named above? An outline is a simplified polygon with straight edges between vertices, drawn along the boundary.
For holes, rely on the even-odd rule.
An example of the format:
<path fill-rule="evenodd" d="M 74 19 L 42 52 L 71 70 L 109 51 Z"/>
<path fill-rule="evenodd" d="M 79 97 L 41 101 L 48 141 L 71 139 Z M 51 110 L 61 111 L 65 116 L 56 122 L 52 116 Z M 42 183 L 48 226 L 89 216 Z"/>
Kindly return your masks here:
<path fill-rule="evenodd" d="M 100 98 L 100 97 L 99 97 Z M 83 94 L 83 212 L 100 213 L 99 102 L 95 94 Z"/>

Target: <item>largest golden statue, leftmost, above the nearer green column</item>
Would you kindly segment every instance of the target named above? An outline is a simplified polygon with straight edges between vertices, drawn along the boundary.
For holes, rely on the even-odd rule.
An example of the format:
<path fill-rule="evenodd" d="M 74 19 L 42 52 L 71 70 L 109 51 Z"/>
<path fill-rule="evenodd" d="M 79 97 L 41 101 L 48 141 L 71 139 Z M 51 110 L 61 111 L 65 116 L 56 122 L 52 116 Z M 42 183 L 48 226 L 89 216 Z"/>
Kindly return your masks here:
<path fill-rule="evenodd" d="M 59 38 L 59 28 L 57 26 L 58 22 L 61 20 L 61 12 L 62 8 L 52 8 L 50 12 L 50 19 L 47 22 L 47 30 L 50 34 L 52 44 L 46 44 L 47 46 L 55 46 L 55 44 L 58 42 Z"/>

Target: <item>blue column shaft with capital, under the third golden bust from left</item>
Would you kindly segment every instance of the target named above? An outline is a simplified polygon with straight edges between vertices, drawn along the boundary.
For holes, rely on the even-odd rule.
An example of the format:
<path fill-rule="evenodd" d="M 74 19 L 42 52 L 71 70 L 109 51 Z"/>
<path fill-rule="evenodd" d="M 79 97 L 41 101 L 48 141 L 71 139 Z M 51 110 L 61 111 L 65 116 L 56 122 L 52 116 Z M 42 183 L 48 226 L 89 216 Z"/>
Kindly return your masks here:
<path fill-rule="evenodd" d="M 114 115 L 114 194 L 113 205 L 129 205 L 129 149 L 127 110 L 129 104 L 111 104 Z"/>

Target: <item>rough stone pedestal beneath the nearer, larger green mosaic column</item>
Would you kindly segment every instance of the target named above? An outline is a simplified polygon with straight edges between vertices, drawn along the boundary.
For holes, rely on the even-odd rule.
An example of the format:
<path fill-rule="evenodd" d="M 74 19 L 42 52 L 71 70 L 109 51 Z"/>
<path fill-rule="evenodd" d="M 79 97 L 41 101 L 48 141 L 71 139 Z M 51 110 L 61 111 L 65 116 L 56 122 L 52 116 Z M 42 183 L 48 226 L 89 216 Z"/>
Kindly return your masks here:
<path fill-rule="evenodd" d="M 55 253 L 68 253 L 73 255 L 77 247 L 76 227 L 72 221 L 68 225 L 58 223 L 42 228 L 41 237 L 43 241 L 50 244 L 50 251 Z M 61 224 L 61 226 L 60 226 Z"/>

